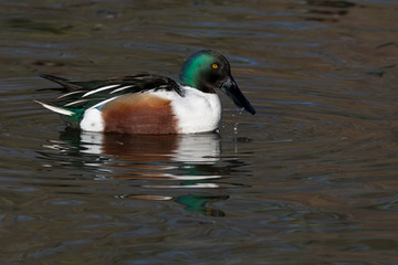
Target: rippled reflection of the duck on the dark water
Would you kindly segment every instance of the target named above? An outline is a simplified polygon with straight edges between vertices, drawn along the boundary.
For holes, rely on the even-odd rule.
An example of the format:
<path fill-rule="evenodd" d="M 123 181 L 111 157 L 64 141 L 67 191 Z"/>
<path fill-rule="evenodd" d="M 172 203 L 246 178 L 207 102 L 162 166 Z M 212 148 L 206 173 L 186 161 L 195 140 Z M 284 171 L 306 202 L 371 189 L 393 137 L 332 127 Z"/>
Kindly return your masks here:
<path fill-rule="evenodd" d="M 150 193 L 124 194 L 124 199 L 170 200 L 188 211 L 224 215 L 210 206 L 229 198 L 220 194 L 220 186 L 226 183 L 217 182 L 221 172 L 228 170 L 228 166 L 217 165 L 221 155 L 218 134 L 132 136 L 65 130 L 60 140 L 48 147 L 54 149 L 60 142 L 69 142 L 80 153 L 101 158 L 95 161 L 101 161 L 98 166 L 109 177 L 139 180 L 139 187 Z M 177 195 L 174 191 L 178 191 Z"/>

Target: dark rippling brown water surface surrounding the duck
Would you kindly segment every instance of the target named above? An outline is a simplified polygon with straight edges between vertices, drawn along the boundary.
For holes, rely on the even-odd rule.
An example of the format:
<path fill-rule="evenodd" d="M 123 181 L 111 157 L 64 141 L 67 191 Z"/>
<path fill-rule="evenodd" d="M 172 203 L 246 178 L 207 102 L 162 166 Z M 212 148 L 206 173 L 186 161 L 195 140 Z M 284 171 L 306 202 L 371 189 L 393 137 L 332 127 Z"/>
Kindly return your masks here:
<path fill-rule="evenodd" d="M 1 264 L 398 264 L 398 1 L 1 1 Z M 73 80 L 213 49 L 258 113 L 69 131 Z"/>

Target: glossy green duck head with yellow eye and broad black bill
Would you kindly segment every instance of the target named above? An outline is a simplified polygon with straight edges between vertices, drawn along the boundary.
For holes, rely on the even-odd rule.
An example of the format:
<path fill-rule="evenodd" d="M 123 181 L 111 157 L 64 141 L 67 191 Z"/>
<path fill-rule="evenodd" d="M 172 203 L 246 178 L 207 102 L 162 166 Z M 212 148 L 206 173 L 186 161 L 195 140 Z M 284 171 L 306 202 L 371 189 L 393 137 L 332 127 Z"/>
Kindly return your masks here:
<path fill-rule="evenodd" d="M 205 93 L 216 93 L 216 88 L 220 88 L 239 108 L 255 114 L 254 107 L 233 80 L 228 60 L 220 53 L 210 50 L 193 53 L 182 65 L 179 78 L 181 85 Z"/>

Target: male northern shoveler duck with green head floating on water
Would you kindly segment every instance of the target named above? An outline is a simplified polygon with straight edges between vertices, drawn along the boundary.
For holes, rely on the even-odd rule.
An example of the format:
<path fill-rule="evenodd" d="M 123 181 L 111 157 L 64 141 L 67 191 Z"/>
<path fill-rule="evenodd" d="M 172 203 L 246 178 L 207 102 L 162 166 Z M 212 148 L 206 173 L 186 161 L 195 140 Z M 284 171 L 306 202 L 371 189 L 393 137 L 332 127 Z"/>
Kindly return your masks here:
<path fill-rule="evenodd" d="M 233 80 L 228 60 L 209 50 L 188 57 L 179 75 L 180 83 L 154 74 L 90 82 L 70 82 L 53 75 L 42 77 L 62 85 L 66 93 L 52 104 L 38 103 L 61 114 L 69 126 L 88 131 L 213 131 L 221 119 L 217 88 L 238 107 L 255 114 Z"/>

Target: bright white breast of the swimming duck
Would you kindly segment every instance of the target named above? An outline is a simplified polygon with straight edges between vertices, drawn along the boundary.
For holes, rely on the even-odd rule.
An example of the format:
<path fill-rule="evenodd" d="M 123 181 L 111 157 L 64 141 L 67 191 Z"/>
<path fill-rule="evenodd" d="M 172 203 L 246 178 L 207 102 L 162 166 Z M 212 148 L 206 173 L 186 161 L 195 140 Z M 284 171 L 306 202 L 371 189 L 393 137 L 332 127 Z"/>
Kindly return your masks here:
<path fill-rule="evenodd" d="M 171 99 L 174 113 L 178 119 L 180 134 L 213 131 L 220 124 L 221 103 L 217 94 L 202 93 L 184 86 L 185 97 L 174 92 L 156 92 Z"/>

